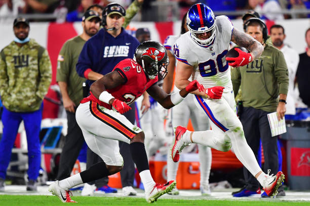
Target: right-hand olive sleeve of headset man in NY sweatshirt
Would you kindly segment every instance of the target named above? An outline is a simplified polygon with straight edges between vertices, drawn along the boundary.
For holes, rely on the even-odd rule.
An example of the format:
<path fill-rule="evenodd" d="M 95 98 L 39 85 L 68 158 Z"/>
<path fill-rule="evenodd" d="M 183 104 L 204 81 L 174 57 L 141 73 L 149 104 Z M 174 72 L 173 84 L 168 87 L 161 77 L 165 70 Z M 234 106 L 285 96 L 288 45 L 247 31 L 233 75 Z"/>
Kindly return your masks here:
<path fill-rule="evenodd" d="M 287 94 L 289 84 L 288 70 L 284 59 L 284 55 L 281 51 L 278 51 L 274 55 L 274 62 L 275 62 L 275 76 L 279 85 L 279 93 Z"/>

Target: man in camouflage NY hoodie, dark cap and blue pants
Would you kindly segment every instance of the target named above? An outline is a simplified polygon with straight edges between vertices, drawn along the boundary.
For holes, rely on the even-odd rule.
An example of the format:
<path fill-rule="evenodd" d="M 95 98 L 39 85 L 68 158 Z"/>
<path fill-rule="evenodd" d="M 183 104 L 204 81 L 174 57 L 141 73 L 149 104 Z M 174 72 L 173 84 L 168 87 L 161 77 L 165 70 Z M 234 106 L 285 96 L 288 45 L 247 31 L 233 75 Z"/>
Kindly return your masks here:
<path fill-rule="evenodd" d="M 0 95 L 3 102 L 3 136 L 0 142 L 0 191 L 11 159 L 12 147 L 21 121 L 24 121 L 28 145 L 27 190 L 36 190 L 41 165 L 39 133 L 43 98 L 52 79 L 47 50 L 29 39 L 29 21 L 14 20 L 15 39 L 1 51 Z"/>

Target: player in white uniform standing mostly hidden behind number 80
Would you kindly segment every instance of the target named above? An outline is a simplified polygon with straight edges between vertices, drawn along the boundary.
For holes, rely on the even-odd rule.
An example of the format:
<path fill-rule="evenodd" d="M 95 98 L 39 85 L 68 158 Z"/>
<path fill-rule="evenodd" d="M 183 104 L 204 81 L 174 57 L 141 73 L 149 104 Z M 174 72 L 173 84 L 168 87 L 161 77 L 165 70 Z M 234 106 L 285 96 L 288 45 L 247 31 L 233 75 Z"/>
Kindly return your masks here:
<path fill-rule="evenodd" d="M 187 26 L 186 26 L 186 14 L 184 15 L 182 19 L 182 25 L 181 25 L 181 34 L 184 34 L 187 32 Z M 173 45 L 176 42 L 176 40 L 180 37 L 180 35 L 170 35 L 166 38 L 164 42 L 164 46 L 167 49 L 168 57 L 170 64 L 168 65 L 168 74 L 166 78 L 164 79 L 164 85 L 163 89 L 169 93 L 171 91 L 171 87 L 173 86 L 173 74 L 175 69 L 176 60 L 173 53 Z M 179 89 L 174 86 L 173 92 L 177 92 Z M 176 107 L 174 107 L 172 110 L 172 126 L 176 127 L 178 125 L 187 126 L 188 119 L 191 119 L 191 123 L 193 126 L 193 129 L 195 131 L 204 131 L 210 129 L 209 124 L 209 118 L 208 116 L 201 113 L 199 110 L 197 110 L 197 107 L 192 104 L 194 101 L 195 95 L 188 94 L 188 96 Z M 174 137 L 173 137 L 174 143 Z M 171 141 L 171 140 L 170 140 Z M 169 143 L 170 143 L 169 141 Z M 198 144 L 199 147 L 199 162 L 200 162 L 200 191 L 203 195 L 210 195 L 210 187 L 209 187 L 209 176 L 210 176 L 210 170 L 211 170 L 211 162 L 212 162 L 212 153 L 211 148 L 202 144 Z M 168 150 L 167 157 L 170 157 L 171 151 Z M 171 158 L 167 159 L 167 179 L 176 179 L 176 174 L 178 170 L 179 163 L 175 163 L 172 161 Z M 175 187 L 171 192 L 168 192 L 168 194 L 179 194 L 179 191 L 177 187 Z"/>

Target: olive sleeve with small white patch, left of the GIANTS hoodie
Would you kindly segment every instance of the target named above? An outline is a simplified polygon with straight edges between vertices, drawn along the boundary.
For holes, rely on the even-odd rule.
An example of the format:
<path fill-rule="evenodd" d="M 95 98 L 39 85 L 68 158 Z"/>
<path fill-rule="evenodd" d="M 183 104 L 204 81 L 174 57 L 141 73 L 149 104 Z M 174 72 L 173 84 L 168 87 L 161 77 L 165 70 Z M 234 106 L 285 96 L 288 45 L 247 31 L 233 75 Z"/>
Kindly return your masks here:
<path fill-rule="evenodd" d="M 67 82 L 70 76 L 71 66 L 71 52 L 69 50 L 68 42 L 65 42 L 59 52 L 57 59 L 57 73 L 56 81 Z"/>

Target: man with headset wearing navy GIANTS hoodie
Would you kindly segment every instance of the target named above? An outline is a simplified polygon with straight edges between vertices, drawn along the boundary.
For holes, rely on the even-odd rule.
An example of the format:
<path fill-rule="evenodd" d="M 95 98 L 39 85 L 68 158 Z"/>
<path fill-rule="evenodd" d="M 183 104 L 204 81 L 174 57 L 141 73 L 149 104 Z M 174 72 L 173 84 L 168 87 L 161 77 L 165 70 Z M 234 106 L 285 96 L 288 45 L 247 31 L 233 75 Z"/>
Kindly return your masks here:
<path fill-rule="evenodd" d="M 125 15 L 125 9 L 119 4 L 112 3 L 106 6 L 102 14 L 104 28 L 85 43 L 76 64 L 76 71 L 81 77 L 88 79 L 86 84 L 89 87 L 94 81 L 111 72 L 120 61 L 133 58 L 139 42 L 122 28 Z M 134 123 L 135 107 L 125 116 Z M 136 195 L 132 187 L 135 169 L 129 153 L 129 144 L 120 142 L 120 151 L 124 157 L 124 169 L 121 171 L 123 192 L 126 195 Z"/>

